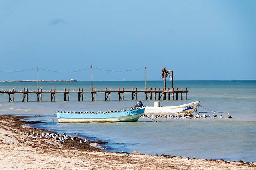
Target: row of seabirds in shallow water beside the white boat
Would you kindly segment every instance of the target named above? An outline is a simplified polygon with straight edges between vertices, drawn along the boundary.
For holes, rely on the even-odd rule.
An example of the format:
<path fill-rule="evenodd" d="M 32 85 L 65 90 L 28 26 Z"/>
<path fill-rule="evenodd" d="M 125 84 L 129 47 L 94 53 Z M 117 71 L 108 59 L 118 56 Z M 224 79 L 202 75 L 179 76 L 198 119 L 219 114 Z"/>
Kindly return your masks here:
<path fill-rule="evenodd" d="M 183 113 L 182 113 L 183 114 Z M 199 115 L 200 111 L 198 113 L 196 113 L 196 116 L 194 116 L 192 113 L 184 113 L 184 115 L 180 115 L 180 113 L 177 113 L 177 115 L 168 115 L 168 114 L 142 114 L 140 117 L 141 118 L 147 118 L 147 117 L 152 117 L 152 118 L 176 118 L 176 119 L 182 119 L 182 118 L 223 118 L 222 115 L 217 116 L 215 115 L 215 112 L 213 112 L 212 116 L 210 115 Z M 232 117 L 229 115 L 227 115 L 228 119 L 231 119 Z"/>

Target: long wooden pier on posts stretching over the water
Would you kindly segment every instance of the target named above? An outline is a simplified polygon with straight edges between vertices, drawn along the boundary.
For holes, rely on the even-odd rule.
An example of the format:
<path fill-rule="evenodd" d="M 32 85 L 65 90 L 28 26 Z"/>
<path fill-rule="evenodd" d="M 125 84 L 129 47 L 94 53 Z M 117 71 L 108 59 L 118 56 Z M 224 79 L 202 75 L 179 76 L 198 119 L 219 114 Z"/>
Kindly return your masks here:
<path fill-rule="evenodd" d="M 97 94 L 98 93 L 104 93 L 105 94 L 105 98 L 104 100 L 110 101 L 110 97 L 111 94 L 117 94 L 116 96 L 118 96 L 118 100 L 124 100 L 124 94 L 132 94 L 132 100 L 137 100 L 137 96 L 139 93 L 145 94 L 145 98 L 144 99 L 140 99 L 140 100 L 178 100 L 178 96 L 180 95 L 180 100 L 183 100 L 183 94 L 185 94 L 185 100 L 187 100 L 187 93 L 188 90 L 187 88 L 185 88 L 185 90 L 183 90 L 183 88 L 180 88 L 180 90 L 178 90 L 178 88 L 176 88 L 176 90 L 174 90 L 174 88 L 170 89 L 167 88 L 166 90 L 164 88 L 160 89 L 152 89 L 152 88 L 148 88 L 145 90 L 137 90 L 137 88 L 132 88 L 132 90 L 124 90 L 124 88 L 122 88 L 122 90 L 120 90 L 120 88 L 118 90 L 114 90 L 111 91 L 111 89 L 107 89 L 105 88 L 104 91 L 97 91 L 97 89 L 92 89 L 91 91 L 84 91 L 82 88 L 78 88 L 77 91 L 73 90 L 70 91 L 69 88 L 68 90 L 66 90 L 66 88 L 64 89 L 64 91 L 56 91 L 55 88 L 54 89 L 50 89 L 49 91 L 45 90 L 42 91 L 42 89 L 37 89 L 37 90 L 28 90 L 28 89 L 23 89 L 21 91 L 15 91 L 14 89 L 9 89 L 9 91 L 0 91 L 0 94 L 8 94 L 9 96 L 9 102 L 14 102 L 14 94 L 23 94 L 23 99 L 22 102 L 28 102 L 28 94 L 36 94 L 37 95 L 37 102 L 42 101 L 42 94 L 50 94 L 50 101 L 51 102 L 55 102 L 56 100 L 56 94 L 64 94 L 64 101 L 69 101 L 70 98 L 70 94 L 71 93 L 77 93 L 78 94 L 78 101 L 83 101 L 84 100 L 84 94 L 90 94 L 91 95 L 91 100 L 92 101 L 96 101 L 97 100 Z M 176 96 L 176 98 L 175 98 Z"/>

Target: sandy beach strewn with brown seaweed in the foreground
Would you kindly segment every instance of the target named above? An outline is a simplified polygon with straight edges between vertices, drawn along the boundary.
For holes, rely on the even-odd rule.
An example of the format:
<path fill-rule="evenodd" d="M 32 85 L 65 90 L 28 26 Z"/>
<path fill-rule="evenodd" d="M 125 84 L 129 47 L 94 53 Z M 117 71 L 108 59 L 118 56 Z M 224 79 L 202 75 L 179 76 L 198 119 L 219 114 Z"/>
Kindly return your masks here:
<path fill-rule="evenodd" d="M 44 129 L 25 127 L 37 123 L 21 121 L 22 117 L 0 115 L 0 167 L 2 170 L 66 169 L 66 170 L 254 170 L 255 162 L 242 160 L 204 160 L 171 155 L 105 152 L 98 148 L 101 142 L 80 139 L 57 142 L 39 137 L 52 133 Z M 33 134 L 34 133 L 34 134 Z M 39 135 L 35 135 L 38 133 Z"/>

